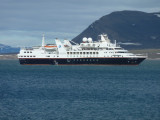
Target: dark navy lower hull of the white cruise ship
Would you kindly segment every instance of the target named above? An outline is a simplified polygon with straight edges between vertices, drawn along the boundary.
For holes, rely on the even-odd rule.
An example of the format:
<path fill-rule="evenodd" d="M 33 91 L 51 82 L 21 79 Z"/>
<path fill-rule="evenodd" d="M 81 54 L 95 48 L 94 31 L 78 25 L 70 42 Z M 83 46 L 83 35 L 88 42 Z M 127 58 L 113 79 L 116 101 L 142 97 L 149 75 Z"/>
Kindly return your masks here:
<path fill-rule="evenodd" d="M 19 59 L 23 65 L 138 65 L 145 58 L 68 58 L 68 59 Z"/>

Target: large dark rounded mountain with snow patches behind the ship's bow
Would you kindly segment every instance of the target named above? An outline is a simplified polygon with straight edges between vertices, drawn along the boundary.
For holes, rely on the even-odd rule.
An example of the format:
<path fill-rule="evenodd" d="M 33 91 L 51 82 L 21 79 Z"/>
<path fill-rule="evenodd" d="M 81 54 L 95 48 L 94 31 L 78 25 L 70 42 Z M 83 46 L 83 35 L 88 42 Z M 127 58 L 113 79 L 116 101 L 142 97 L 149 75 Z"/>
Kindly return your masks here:
<path fill-rule="evenodd" d="M 160 48 L 160 13 L 119 11 L 101 17 L 73 39 L 83 37 L 97 40 L 99 34 L 108 34 L 126 49 Z"/>

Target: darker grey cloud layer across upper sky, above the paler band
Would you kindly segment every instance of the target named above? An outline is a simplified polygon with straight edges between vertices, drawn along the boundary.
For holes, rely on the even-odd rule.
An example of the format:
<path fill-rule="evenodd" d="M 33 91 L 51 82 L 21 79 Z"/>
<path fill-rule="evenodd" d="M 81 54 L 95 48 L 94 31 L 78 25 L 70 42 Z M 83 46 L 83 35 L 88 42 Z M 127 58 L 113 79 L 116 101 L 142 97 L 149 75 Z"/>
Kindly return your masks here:
<path fill-rule="evenodd" d="M 159 6 L 159 0 L 2 0 L 0 29 L 81 32 L 112 11 L 148 9 L 149 12 Z M 84 27 L 77 29 L 77 26 Z"/>

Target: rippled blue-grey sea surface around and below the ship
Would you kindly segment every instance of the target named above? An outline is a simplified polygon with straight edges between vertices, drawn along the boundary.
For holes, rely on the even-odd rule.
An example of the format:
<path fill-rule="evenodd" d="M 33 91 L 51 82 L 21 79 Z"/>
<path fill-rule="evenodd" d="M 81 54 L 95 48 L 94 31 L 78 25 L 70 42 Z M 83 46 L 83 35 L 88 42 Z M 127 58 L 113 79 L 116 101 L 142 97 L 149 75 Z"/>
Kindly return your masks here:
<path fill-rule="evenodd" d="M 0 60 L 0 120 L 160 120 L 160 61 L 22 66 Z"/>

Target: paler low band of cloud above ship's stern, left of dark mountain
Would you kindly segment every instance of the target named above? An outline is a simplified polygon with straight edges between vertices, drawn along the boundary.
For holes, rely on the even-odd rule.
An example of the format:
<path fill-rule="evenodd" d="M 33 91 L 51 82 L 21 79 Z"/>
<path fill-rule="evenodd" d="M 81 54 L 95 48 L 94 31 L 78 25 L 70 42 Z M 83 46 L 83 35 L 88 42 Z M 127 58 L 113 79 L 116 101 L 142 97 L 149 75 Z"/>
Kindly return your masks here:
<path fill-rule="evenodd" d="M 45 42 L 54 43 L 55 38 L 71 40 L 75 33 L 42 32 L 42 31 L 0 31 L 0 43 L 13 47 L 31 47 L 41 45 L 42 35 L 45 34 Z"/>

